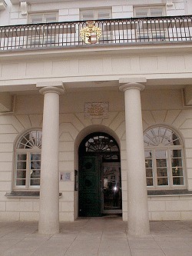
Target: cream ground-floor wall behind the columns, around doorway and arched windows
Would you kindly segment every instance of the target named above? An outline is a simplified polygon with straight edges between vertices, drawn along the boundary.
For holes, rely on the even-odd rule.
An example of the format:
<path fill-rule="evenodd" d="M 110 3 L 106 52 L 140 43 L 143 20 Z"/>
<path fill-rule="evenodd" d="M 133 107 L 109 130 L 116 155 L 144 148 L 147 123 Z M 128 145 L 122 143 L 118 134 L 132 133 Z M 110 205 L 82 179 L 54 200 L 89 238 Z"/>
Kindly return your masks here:
<path fill-rule="evenodd" d="M 149 100 L 149 95 L 152 95 Z M 123 218 L 127 219 L 127 170 L 124 126 L 124 95 L 119 91 L 69 92 L 60 101 L 59 171 L 71 172 L 71 181 L 60 181 L 60 220 L 78 217 L 78 192 L 74 191 L 74 168 L 78 168 L 78 145 L 91 131 L 108 131 L 121 147 Z M 69 104 L 74 102 L 75 105 Z M 114 100 L 115 99 L 115 100 Z M 84 103 L 108 101 L 109 118 L 85 119 Z M 177 104 L 175 104 L 177 102 Z M 192 190 L 192 109 L 183 108 L 180 90 L 151 90 L 141 93 L 144 129 L 151 125 L 168 125 L 183 138 L 186 148 L 187 188 Z M 117 106 L 117 107 L 116 107 Z M 38 220 L 37 198 L 6 198 L 12 190 L 12 161 L 18 135 L 42 125 L 43 97 L 17 95 L 15 114 L 0 116 L 0 220 Z M 151 220 L 191 219 L 192 196 L 149 197 Z"/>

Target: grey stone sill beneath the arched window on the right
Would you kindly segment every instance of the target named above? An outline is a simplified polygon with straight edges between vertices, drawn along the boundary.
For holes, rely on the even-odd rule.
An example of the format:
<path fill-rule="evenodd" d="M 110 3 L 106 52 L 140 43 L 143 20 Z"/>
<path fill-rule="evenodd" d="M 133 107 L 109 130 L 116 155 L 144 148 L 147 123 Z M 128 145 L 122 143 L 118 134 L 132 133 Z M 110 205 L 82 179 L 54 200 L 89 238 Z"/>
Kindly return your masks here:
<path fill-rule="evenodd" d="M 192 195 L 192 191 L 187 189 L 170 189 L 170 190 L 149 190 L 148 196 L 178 196 L 178 195 Z"/>

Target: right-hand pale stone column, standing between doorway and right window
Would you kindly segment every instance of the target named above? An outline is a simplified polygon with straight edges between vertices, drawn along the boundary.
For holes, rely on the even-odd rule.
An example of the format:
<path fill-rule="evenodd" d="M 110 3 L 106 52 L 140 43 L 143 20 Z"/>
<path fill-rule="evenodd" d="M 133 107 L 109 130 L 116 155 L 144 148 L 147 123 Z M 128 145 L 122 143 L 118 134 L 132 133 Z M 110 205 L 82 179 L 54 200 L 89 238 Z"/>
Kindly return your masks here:
<path fill-rule="evenodd" d="M 128 234 L 140 236 L 150 232 L 140 95 L 144 85 L 127 83 L 120 90 L 125 101 Z"/>

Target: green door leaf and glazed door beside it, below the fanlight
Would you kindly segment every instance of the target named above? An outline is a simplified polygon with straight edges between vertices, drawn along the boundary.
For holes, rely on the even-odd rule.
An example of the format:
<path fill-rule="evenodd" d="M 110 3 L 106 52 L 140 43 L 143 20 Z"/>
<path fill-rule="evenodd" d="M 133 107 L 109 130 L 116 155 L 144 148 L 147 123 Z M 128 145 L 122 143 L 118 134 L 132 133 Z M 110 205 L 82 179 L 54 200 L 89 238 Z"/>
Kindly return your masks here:
<path fill-rule="evenodd" d="M 79 163 L 79 216 L 121 213 L 120 162 L 101 155 L 82 156 Z"/>

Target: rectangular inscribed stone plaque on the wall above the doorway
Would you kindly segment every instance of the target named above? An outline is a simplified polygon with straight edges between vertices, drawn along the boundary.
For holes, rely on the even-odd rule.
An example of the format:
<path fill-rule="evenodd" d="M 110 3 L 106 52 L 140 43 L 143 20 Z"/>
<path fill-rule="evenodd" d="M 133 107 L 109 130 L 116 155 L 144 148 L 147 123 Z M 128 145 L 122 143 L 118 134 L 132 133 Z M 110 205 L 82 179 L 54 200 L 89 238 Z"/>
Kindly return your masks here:
<path fill-rule="evenodd" d="M 108 102 L 85 103 L 85 118 L 108 118 Z"/>

